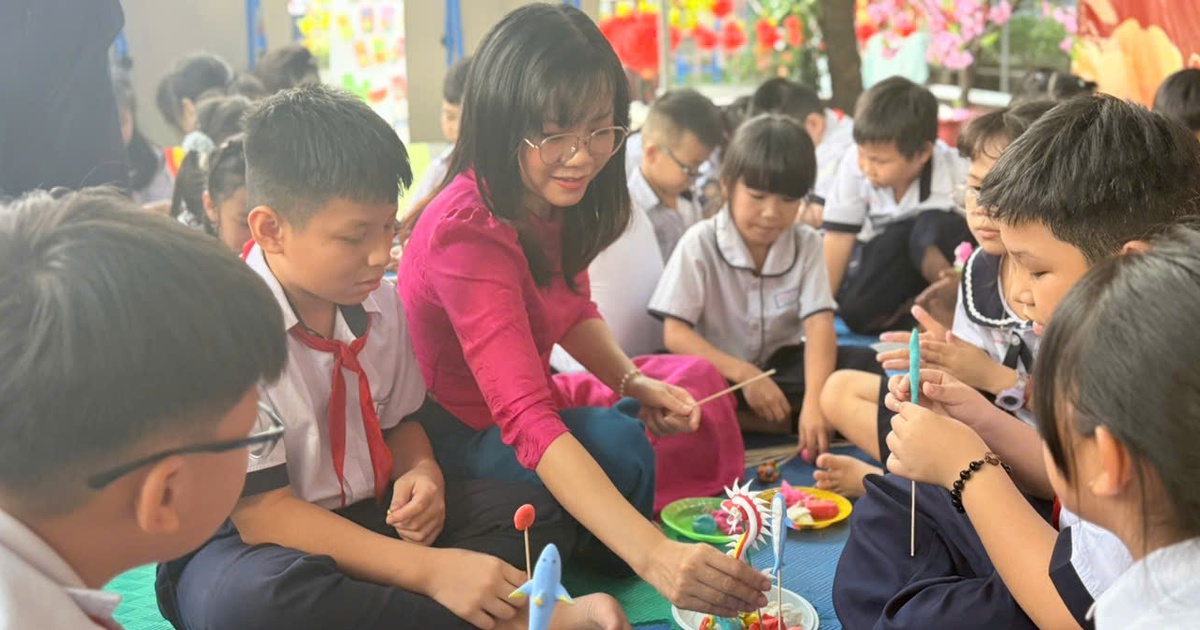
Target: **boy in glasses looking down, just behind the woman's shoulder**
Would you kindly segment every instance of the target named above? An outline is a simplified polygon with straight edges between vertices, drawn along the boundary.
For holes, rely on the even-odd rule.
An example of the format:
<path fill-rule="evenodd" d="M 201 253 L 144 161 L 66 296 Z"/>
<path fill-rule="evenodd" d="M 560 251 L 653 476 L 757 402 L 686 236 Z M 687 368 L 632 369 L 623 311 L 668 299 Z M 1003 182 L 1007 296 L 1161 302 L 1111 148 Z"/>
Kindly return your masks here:
<path fill-rule="evenodd" d="M 692 197 L 700 167 L 721 142 L 721 113 L 696 90 L 672 90 L 654 101 L 646 125 L 631 142 L 641 146 L 641 166 L 628 172 L 634 212 L 654 224 L 662 262 L 688 228 L 704 218 Z M 653 290 L 653 288 L 650 289 Z M 648 295 L 647 295 L 648 298 Z"/>

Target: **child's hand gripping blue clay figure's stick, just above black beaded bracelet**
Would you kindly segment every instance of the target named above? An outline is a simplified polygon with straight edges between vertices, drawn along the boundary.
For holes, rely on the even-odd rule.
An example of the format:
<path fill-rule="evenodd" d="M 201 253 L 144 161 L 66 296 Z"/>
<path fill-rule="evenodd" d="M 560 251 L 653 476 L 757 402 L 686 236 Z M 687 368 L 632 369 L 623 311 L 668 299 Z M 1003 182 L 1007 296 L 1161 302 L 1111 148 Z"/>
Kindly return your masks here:
<path fill-rule="evenodd" d="M 887 443 L 889 472 L 947 490 L 960 470 L 988 452 L 983 438 L 967 425 L 908 402 L 900 403 L 892 418 Z"/>

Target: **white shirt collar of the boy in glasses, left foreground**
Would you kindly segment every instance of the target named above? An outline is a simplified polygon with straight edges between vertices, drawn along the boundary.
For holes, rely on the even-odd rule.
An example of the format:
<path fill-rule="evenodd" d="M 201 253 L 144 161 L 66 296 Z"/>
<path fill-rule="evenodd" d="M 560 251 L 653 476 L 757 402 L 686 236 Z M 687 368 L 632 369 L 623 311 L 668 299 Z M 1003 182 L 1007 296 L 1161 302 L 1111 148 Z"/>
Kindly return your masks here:
<path fill-rule="evenodd" d="M 113 611 L 121 602 L 115 593 L 94 590 L 84 586 L 79 574 L 59 556 L 59 552 L 32 529 L 12 515 L 0 510 L 0 547 L 16 554 L 62 589 L 79 610 L 107 628 L 120 628 L 112 620 Z"/>

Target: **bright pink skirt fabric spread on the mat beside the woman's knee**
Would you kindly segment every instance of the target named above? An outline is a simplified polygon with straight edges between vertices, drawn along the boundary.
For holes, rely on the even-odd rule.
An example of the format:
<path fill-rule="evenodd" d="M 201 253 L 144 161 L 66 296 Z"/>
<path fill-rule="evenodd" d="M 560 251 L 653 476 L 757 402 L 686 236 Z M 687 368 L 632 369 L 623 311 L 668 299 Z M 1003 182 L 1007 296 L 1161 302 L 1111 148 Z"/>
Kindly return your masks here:
<path fill-rule="evenodd" d="M 713 364 L 695 356 L 652 355 L 634 359 L 650 378 L 678 385 L 697 401 L 728 386 Z M 554 385 L 569 407 L 611 407 L 617 395 L 586 372 L 558 374 Z M 688 497 L 710 497 L 745 473 L 746 451 L 732 394 L 704 404 L 695 433 L 655 438 L 654 512 Z"/>

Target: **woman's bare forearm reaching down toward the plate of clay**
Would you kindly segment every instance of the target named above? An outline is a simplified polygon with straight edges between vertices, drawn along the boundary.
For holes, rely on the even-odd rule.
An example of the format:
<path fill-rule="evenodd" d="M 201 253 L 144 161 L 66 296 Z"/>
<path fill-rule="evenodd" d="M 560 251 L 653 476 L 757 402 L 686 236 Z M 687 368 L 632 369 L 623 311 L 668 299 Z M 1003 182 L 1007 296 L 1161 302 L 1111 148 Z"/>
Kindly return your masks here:
<path fill-rule="evenodd" d="M 612 485 L 600 464 L 570 433 L 550 444 L 538 476 L 551 494 L 638 575 L 646 575 L 650 551 L 665 540 Z"/>

